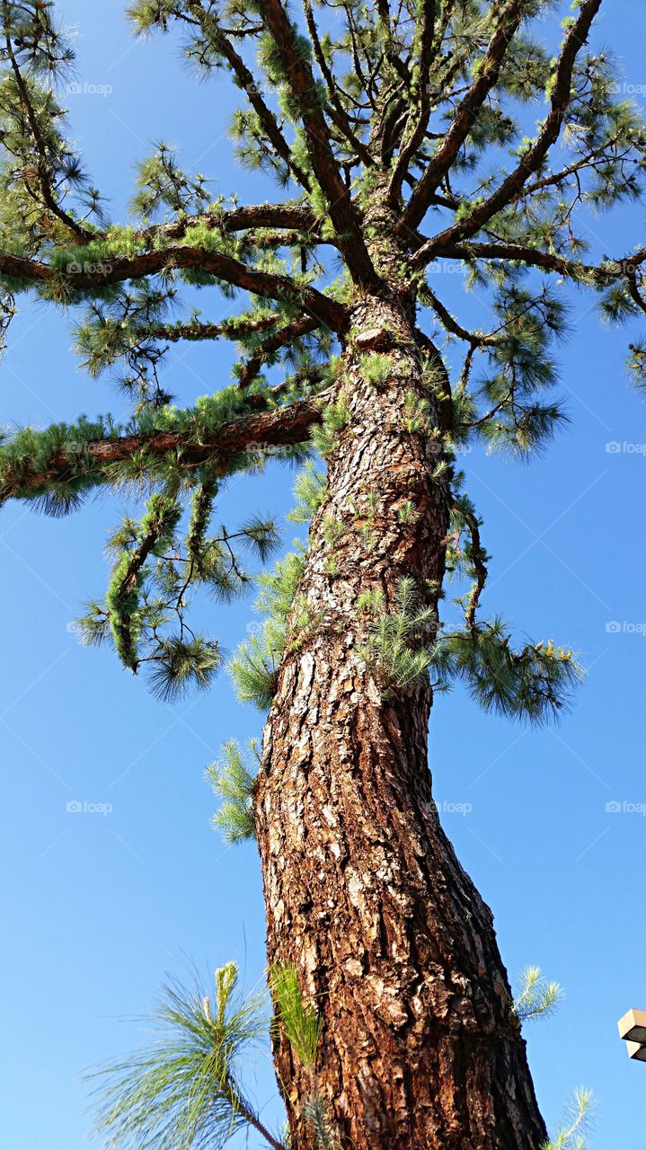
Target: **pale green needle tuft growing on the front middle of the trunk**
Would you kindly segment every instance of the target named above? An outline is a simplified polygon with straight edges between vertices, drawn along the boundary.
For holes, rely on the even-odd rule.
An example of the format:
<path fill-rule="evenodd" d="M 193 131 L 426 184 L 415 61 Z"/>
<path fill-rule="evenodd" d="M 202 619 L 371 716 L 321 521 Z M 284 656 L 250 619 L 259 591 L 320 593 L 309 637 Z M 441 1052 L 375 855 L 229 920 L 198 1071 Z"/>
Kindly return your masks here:
<path fill-rule="evenodd" d="M 437 622 L 433 607 L 420 606 L 412 578 L 400 580 L 395 611 L 386 612 L 380 593 L 363 595 L 359 608 L 371 615 L 368 642 L 357 649 L 370 674 L 385 689 L 412 690 L 426 683 L 431 654 L 412 644 L 428 636 Z"/>

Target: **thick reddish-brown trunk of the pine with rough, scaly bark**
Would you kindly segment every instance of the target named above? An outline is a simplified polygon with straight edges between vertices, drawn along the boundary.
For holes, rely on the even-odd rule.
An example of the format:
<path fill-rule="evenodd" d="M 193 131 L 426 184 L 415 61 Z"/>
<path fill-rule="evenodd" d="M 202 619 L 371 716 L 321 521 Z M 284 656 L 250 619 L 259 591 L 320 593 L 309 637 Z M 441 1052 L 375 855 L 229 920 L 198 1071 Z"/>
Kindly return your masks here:
<path fill-rule="evenodd" d="M 361 359 L 382 347 L 390 374 L 375 386 Z M 300 588 L 314 622 L 287 646 L 256 791 L 269 963 L 295 966 L 324 1020 L 315 1081 L 276 1041 L 292 1144 L 325 1144 L 306 1105 L 317 1091 L 330 1148 L 538 1150 L 545 1127 L 492 915 L 431 798 L 431 688 L 389 689 L 357 652 L 362 592 L 380 589 L 392 611 L 406 575 L 429 604 L 444 574 L 448 484 L 428 429 L 439 404 L 410 298 L 363 298 L 344 360 L 352 414 Z M 430 405 L 422 430 L 405 422 L 410 393 Z"/>

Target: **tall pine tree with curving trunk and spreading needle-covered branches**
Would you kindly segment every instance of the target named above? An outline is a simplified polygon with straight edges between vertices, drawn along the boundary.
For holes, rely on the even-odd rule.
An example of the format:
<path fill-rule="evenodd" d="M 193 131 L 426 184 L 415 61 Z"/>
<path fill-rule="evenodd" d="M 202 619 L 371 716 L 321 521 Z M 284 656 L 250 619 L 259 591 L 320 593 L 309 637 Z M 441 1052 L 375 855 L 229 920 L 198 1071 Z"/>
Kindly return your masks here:
<path fill-rule="evenodd" d="M 22 294 L 72 309 L 85 368 L 116 373 L 131 398 L 123 422 L 6 437 L 0 499 L 53 515 L 99 489 L 139 500 L 82 628 L 163 698 L 210 685 L 223 662 L 217 637 L 191 628 L 191 597 L 260 584 L 264 622 L 231 664 L 269 712 L 257 773 L 231 743 L 212 779 L 221 825 L 255 835 L 269 967 L 289 972 L 272 980 L 274 1055 L 299 1150 L 546 1138 L 491 913 L 432 804 L 426 739 L 455 677 L 484 707 L 540 722 L 578 676 L 570 651 L 516 644 L 483 615 L 489 558 L 455 452 L 480 439 L 526 455 L 563 423 L 563 285 L 615 322 L 646 309 L 646 250 L 589 262 L 580 223 L 638 200 L 646 156 L 637 110 L 589 47 L 601 5 L 576 0 L 553 56 L 551 0 L 136 0 L 137 32 L 180 34 L 199 74 L 229 75 L 236 153 L 282 191 L 214 202 L 160 144 L 117 223 L 69 141 L 55 5 L 0 2 L 0 331 Z M 489 293 L 491 330 L 443 300 L 449 266 Z M 230 316 L 178 317 L 198 288 Z M 164 388 L 178 340 L 240 350 L 232 382 L 186 408 Z M 637 385 L 645 365 L 633 344 Z M 245 554 L 270 558 L 275 523 L 214 516 L 228 480 L 269 459 L 303 467 L 309 539 L 256 580 Z M 467 581 L 459 628 L 440 618 L 447 574 Z M 307 1058 L 289 994 L 308 1033 L 316 1019 Z M 191 1011 L 203 1050 L 210 1014 Z M 217 1082 L 236 1126 L 246 1104 Z"/>

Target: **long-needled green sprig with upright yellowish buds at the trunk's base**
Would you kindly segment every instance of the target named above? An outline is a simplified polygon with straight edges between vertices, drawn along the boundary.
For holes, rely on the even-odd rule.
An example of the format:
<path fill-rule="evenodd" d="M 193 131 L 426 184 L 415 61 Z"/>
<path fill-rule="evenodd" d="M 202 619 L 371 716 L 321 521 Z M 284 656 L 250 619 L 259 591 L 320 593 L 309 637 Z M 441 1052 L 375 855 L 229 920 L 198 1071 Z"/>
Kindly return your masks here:
<path fill-rule="evenodd" d="M 97 1134 L 138 1150 L 218 1150 L 246 1128 L 264 1130 L 239 1084 L 239 1058 L 267 1029 L 264 996 L 241 998 L 238 968 L 215 973 L 215 995 L 195 980 L 164 988 L 153 1017 L 156 1041 L 90 1075 L 102 1083 Z"/>

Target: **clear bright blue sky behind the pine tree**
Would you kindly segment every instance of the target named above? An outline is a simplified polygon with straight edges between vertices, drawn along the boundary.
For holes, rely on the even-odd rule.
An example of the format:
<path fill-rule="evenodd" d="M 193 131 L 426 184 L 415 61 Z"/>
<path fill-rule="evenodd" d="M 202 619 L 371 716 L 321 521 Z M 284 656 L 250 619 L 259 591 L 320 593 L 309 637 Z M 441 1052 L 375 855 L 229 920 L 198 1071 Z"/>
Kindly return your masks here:
<path fill-rule="evenodd" d="M 78 33 L 74 135 L 116 218 L 134 162 L 159 138 L 213 178 L 214 195 L 266 198 L 262 179 L 232 166 L 224 76 L 199 85 L 176 40 L 134 41 L 118 0 L 60 8 Z M 614 48 L 643 103 L 645 34 L 641 5 L 605 0 L 595 43 Z M 625 254 L 643 238 L 644 209 L 589 227 L 594 254 Z M 463 298 L 461 277 L 449 278 L 452 306 L 485 325 L 484 298 Z M 646 1009 L 646 407 L 623 369 L 631 327 L 603 328 L 587 296 L 570 302 L 559 352 L 570 428 L 530 466 L 476 451 L 463 462 L 493 557 L 489 611 L 572 646 L 587 681 L 572 712 L 538 733 L 480 714 L 455 690 L 437 703 L 430 753 L 444 825 L 494 911 L 512 979 L 538 964 L 567 991 L 554 1019 L 525 1032 L 549 1126 L 585 1084 L 598 1098 L 591 1145 L 643 1150 L 646 1067 L 629 1063 L 616 1020 Z M 217 320 L 225 305 L 209 296 L 202 307 Z M 70 321 L 23 299 L 0 367 L 3 422 L 120 412 L 107 384 L 79 373 Z M 229 363 L 220 350 L 178 345 L 170 388 L 189 402 L 225 384 Z M 290 485 L 278 468 L 237 480 L 222 515 L 284 515 Z M 62 521 L 22 505 L 0 516 L 1 1150 L 90 1144 L 80 1072 L 145 1038 L 132 1018 L 167 972 L 237 958 L 252 986 L 263 969 L 255 849 L 228 850 L 210 830 L 203 782 L 221 743 L 257 735 L 260 716 L 236 703 L 225 675 L 184 705 L 157 703 L 114 654 L 79 647 L 70 629 L 106 585 L 103 545 L 118 515 L 118 500 L 103 499 Z M 212 614 L 229 649 L 254 620 L 249 604 Z M 110 810 L 70 813 L 75 800 Z M 267 1067 L 257 1073 L 259 1096 L 269 1097 Z M 274 1109 L 269 1101 L 267 1114 Z"/>

